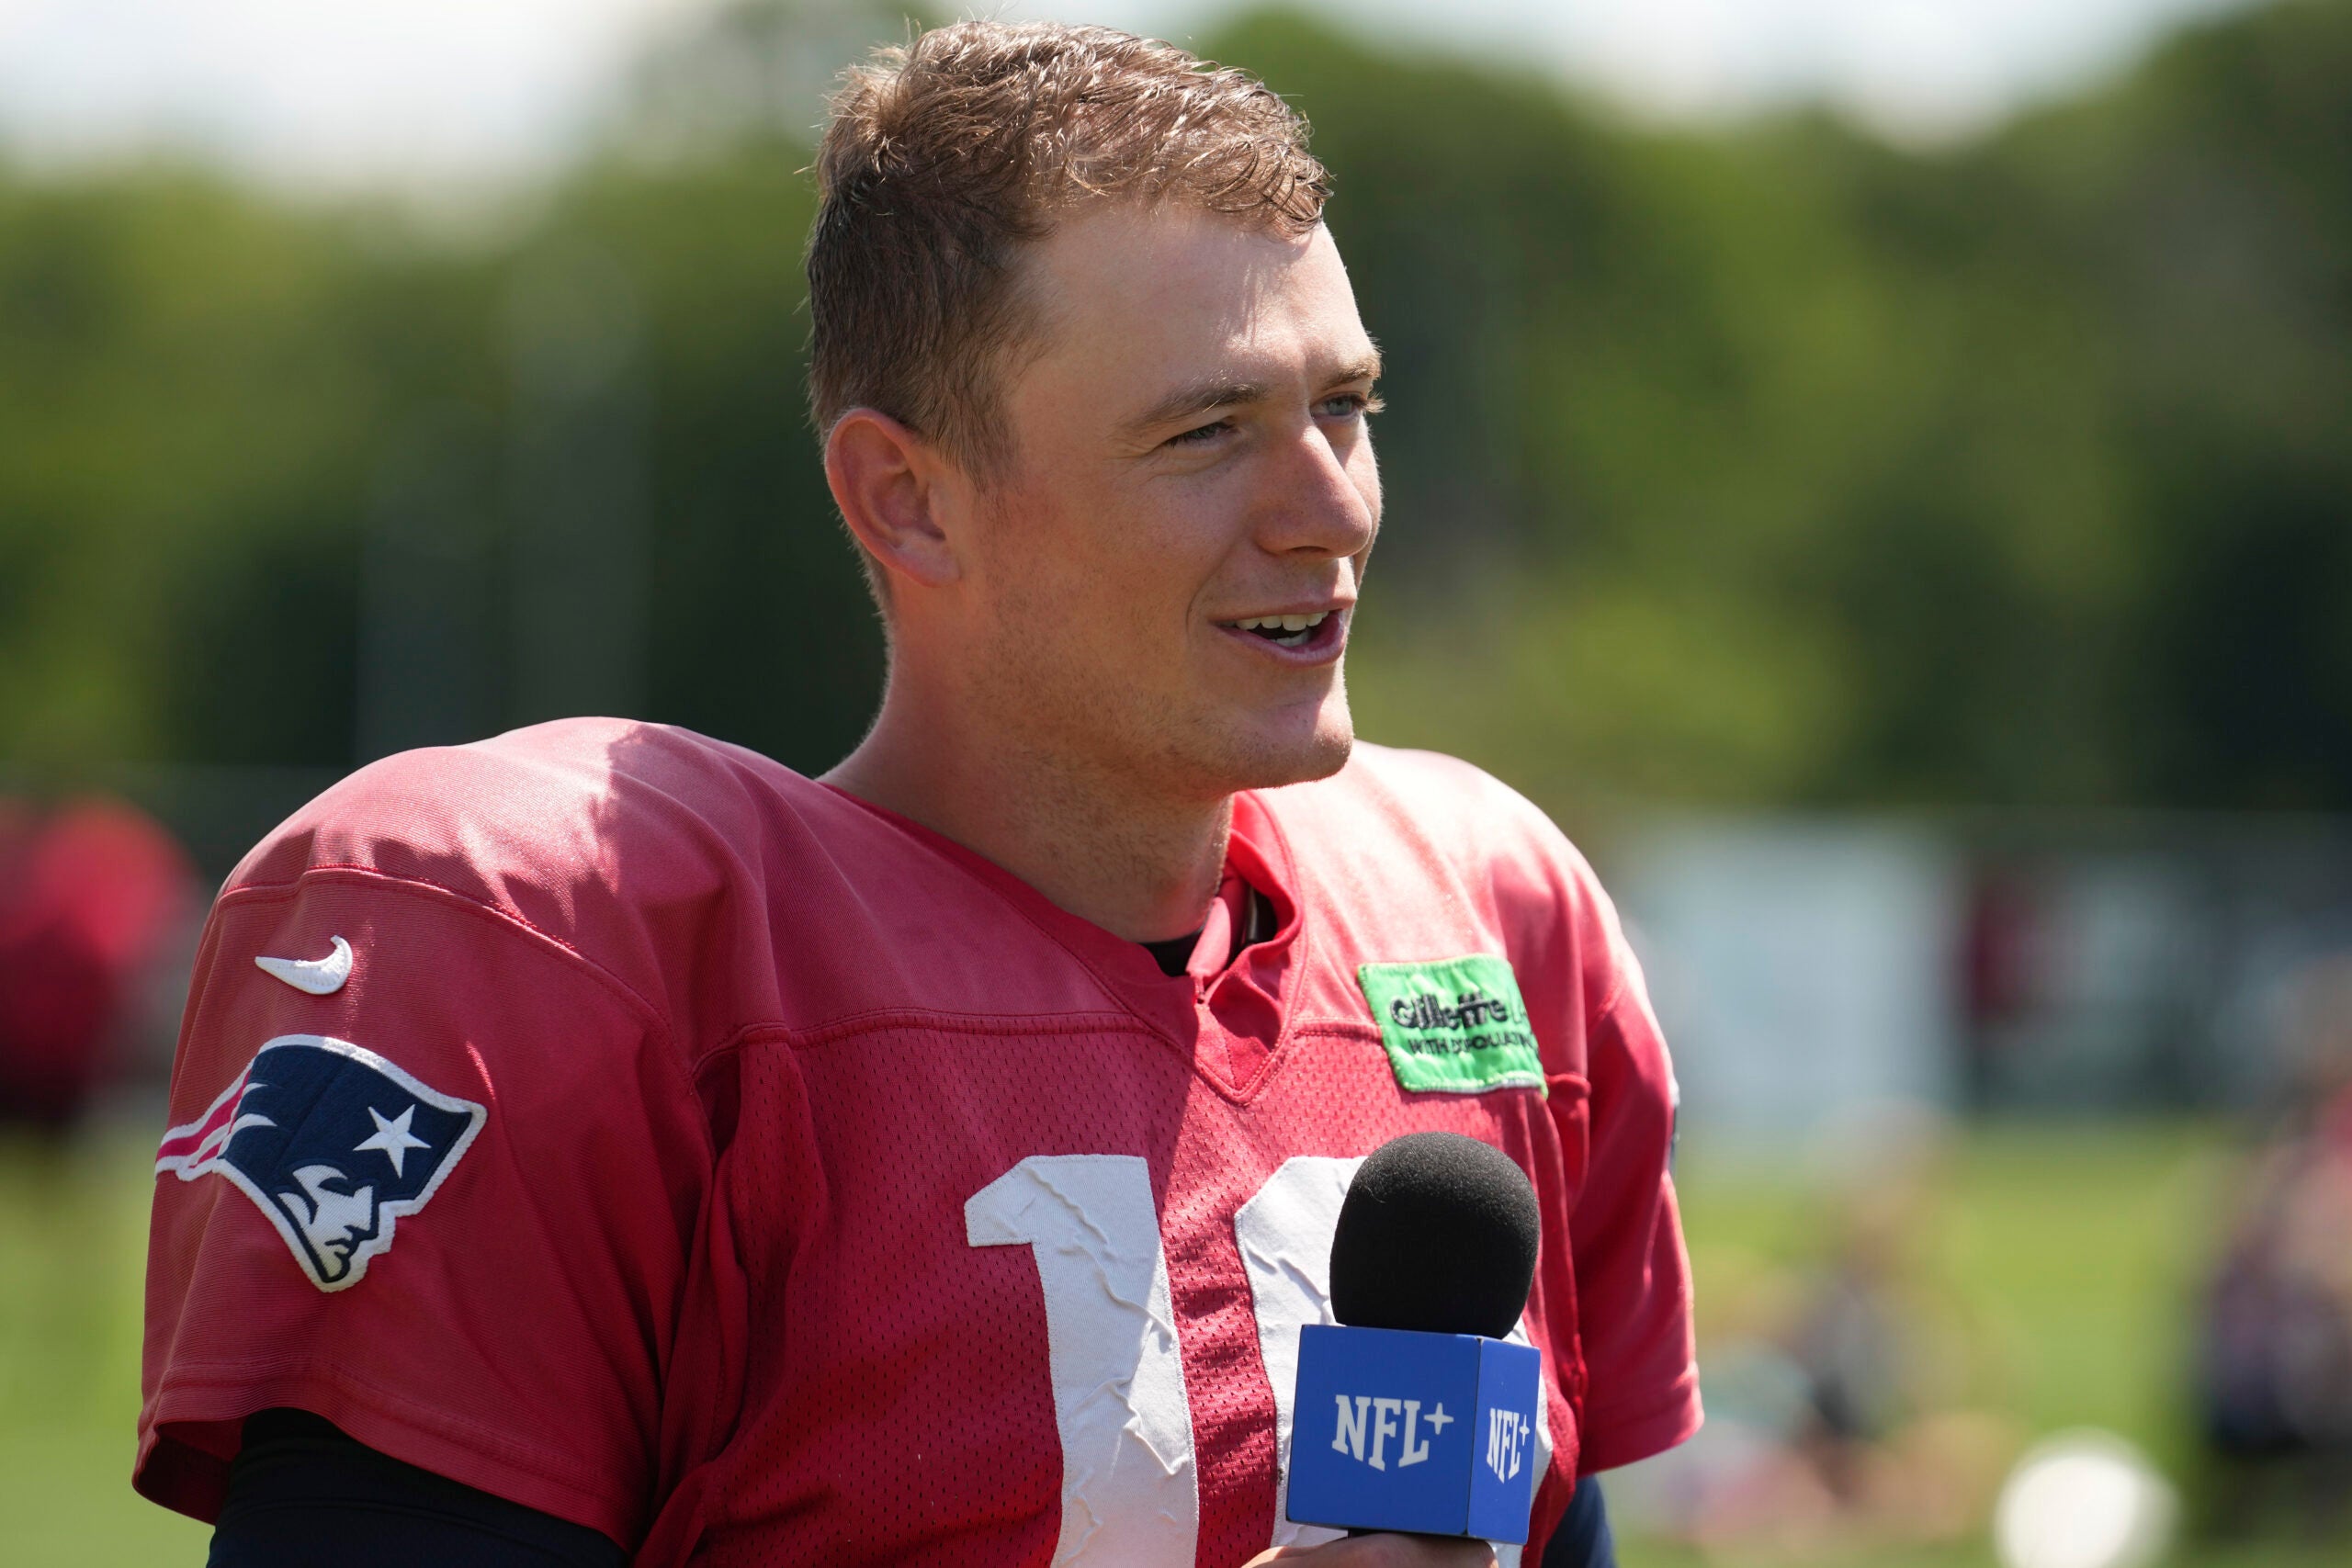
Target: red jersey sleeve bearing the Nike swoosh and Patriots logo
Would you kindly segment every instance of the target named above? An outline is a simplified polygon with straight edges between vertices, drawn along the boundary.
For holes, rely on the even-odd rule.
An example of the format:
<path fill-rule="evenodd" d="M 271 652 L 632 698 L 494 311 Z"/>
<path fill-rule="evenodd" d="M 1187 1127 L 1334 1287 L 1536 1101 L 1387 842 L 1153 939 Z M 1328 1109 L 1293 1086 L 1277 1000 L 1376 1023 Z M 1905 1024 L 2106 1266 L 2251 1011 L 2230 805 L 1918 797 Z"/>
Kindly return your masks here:
<path fill-rule="evenodd" d="M 708 1190 L 659 1013 L 562 940 L 374 870 L 223 893 L 155 1164 L 136 1488 L 214 1519 L 242 1418 L 292 1406 L 633 1547 Z"/>

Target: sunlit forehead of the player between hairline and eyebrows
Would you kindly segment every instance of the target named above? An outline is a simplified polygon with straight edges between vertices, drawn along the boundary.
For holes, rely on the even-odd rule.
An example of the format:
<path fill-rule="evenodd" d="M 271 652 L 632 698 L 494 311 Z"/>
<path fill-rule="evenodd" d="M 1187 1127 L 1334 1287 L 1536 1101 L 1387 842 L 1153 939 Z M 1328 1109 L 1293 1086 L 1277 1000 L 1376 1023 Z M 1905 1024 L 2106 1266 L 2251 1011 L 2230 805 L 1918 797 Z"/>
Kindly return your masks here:
<path fill-rule="evenodd" d="M 1035 242 L 1023 287 L 1040 341 L 1016 402 L 1105 400 L 1096 411 L 1117 418 L 1171 381 L 1312 381 L 1371 355 L 1322 226 L 1287 235 L 1192 207 L 1098 207 Z"/>

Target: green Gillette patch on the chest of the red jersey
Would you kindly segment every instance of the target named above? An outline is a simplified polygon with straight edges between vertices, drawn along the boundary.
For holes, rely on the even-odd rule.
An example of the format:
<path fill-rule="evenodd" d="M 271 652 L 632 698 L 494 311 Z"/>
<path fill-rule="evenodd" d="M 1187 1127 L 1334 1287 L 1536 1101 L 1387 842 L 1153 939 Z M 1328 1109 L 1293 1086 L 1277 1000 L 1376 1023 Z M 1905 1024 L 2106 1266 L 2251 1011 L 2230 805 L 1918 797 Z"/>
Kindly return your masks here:
<path fill-rule="evenodd" d="M 1456 1095 L 1543 1088 L 1536 1032 L 1508 959 L 1472 952 L 1428 964 L 1362 964 L 1355 978 L 1404 1088 Z"/>

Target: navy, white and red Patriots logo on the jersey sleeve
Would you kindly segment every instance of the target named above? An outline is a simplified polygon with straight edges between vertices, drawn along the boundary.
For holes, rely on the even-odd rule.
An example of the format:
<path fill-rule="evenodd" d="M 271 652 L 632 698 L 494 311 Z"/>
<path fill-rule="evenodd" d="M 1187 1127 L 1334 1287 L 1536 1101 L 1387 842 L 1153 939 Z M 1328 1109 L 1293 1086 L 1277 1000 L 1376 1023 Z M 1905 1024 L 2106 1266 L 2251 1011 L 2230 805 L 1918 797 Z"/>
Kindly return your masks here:
<path fill-rule="evenodd" d="M 430 1201 L 487 1117 L 348 1039 L 280 1034 L 212 1110 L 162 1135 L 155 1173 L 226 1175 L 310 1284 L 343 1291 L 393 1244 L 393 1225 Z"/>

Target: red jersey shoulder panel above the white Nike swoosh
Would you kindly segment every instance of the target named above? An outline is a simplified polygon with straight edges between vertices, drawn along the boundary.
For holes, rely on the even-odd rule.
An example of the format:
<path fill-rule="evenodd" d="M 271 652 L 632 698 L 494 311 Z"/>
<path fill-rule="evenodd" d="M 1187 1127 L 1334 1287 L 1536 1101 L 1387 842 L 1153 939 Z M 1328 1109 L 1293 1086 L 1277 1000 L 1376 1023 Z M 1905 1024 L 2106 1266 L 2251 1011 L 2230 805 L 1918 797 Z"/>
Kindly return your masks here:
<path fill-rule="evenodd" d="M 369 764 L 263 839 L 219 912 L 329 896 L 506 924 L 597 971 L 696 1063 L 755 1027 L 990 1011 L 1007 945 L 1047 945 L 887 813 L 739 745 L 619 719 Z"/>

